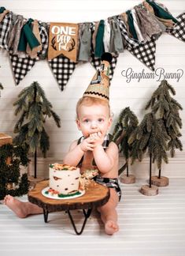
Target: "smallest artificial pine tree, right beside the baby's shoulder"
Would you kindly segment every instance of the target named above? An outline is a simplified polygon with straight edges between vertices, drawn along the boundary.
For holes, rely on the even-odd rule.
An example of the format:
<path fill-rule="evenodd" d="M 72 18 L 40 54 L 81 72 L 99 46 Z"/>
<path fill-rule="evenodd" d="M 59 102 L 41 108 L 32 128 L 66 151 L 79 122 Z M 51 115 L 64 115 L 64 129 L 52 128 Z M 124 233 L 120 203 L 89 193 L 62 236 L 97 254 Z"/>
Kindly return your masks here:
<path fill-rule="evenodd" d="M 118 122 L 113 130 L 113 141 L 120 148 L 120 152 L 126 160 L 126 163 L 119 170 L 119 175 L 127 168 L 127 176 L 129 175 L 129 158 L 131 157 L 131 145 L 128 144 L 128 138 L 135 128 L 138 126 L 136 115 L 130 110 L 130 107 L 125 107 L 120 112 Z"/>

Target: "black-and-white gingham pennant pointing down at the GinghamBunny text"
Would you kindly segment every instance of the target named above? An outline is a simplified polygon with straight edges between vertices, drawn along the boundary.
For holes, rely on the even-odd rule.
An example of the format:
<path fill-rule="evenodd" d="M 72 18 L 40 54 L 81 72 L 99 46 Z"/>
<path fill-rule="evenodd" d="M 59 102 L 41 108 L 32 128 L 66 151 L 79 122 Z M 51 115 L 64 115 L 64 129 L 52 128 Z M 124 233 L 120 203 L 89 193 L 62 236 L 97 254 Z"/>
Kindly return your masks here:
<path fill-rule="evenodd" d="M 155 70 L 156 40 L 154 38 L 146 41 L 146 43 L 140 43 L 137 47 L 127 45 L 127 49 L 132 55 L 135 55 L 136 58 L 139 58 L 142 63 L 149 67 L 150 70 Z"/>

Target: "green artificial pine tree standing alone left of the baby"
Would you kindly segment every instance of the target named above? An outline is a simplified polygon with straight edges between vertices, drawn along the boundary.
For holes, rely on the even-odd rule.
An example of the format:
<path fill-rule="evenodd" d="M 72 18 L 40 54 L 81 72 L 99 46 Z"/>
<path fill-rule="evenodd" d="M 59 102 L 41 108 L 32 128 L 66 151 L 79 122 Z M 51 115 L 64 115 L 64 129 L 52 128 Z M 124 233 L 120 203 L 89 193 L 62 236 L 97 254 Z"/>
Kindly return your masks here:
<path fill-rule="evenodd" d="M 24 88 L 18 98 L 13 105 L 17 106 L 15 115 L 20 112 L 21 115 L 14 127 L 14 133 L 17 136 L 13 139 L 13 142 L 16 145 L 28 146 L 29 152 L 34 153 L 34 178 L 36 179 L 37 149 L 41 149 L 43 156 L 46 157 L 46 151 L 50 148 L 49 136 L 44 128 L 46 118 L 53 117 L 57 127 L 61 126 L 61 120 L 52 110 L 50 101 L 46 99 L 45 92 L 37 81 Z"/>

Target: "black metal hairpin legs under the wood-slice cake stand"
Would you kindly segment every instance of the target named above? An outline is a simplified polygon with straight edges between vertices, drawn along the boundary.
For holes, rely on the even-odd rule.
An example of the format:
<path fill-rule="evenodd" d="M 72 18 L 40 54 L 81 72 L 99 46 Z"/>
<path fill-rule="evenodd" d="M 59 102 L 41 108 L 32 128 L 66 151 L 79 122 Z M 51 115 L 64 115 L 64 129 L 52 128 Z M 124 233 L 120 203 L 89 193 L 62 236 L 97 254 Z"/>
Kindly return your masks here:
<path fill-rule="evenodd" d="M 84 215 L 85 219 L 83 220 L 83 225 L 82 225 L 82 228 L 81 228 L 80 232 L 78 232 L 77 229 L 76 229 L 76 225 L 74 223 L 74 220 L 72 219 L 72 215 L 71 215 L 70 211 L 67 210 L 69 219 L 71 220 L 72 227 L 74 228 L 74 231 L 76 232 L 76 235 L 81 235 L 82 234 L 83 229 L 85 228 L 85 224 L 87 222 L 87 219 L 91 216 L 91 212 L 92 212 L 92 209 L 87 209 L 87 211 L 83 209 L 83 215 Z M 44 217 L 45 223 L 47 222 L 47 219 L 48 219 L 48 213 L 49 212 L 48 212 L 47 209 L 43 209 L 43 217 Z"/>

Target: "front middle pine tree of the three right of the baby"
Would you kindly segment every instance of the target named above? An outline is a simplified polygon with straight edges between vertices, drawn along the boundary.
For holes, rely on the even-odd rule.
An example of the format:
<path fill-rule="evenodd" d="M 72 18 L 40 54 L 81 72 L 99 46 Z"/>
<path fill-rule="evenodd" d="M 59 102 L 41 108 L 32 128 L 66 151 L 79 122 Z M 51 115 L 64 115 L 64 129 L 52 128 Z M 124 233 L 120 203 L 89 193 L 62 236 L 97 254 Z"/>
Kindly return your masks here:
<path fill-rule="evenodd" d="M 139 126 L 132 132 L 128 139 L 131 145 L 131 164 L 136 159 L 142 160 L 144 152 L 150 155 L 150 187 L 151 187 L 151 167 L 152 162 L 157 162 L 157 167 L 161 167 L 162 160 L 168 163 L 168 134 L 164 129 L 164 123 L 161 119 L 157 120 L 154 113 L 148 113 L 142 119 Z"/>

